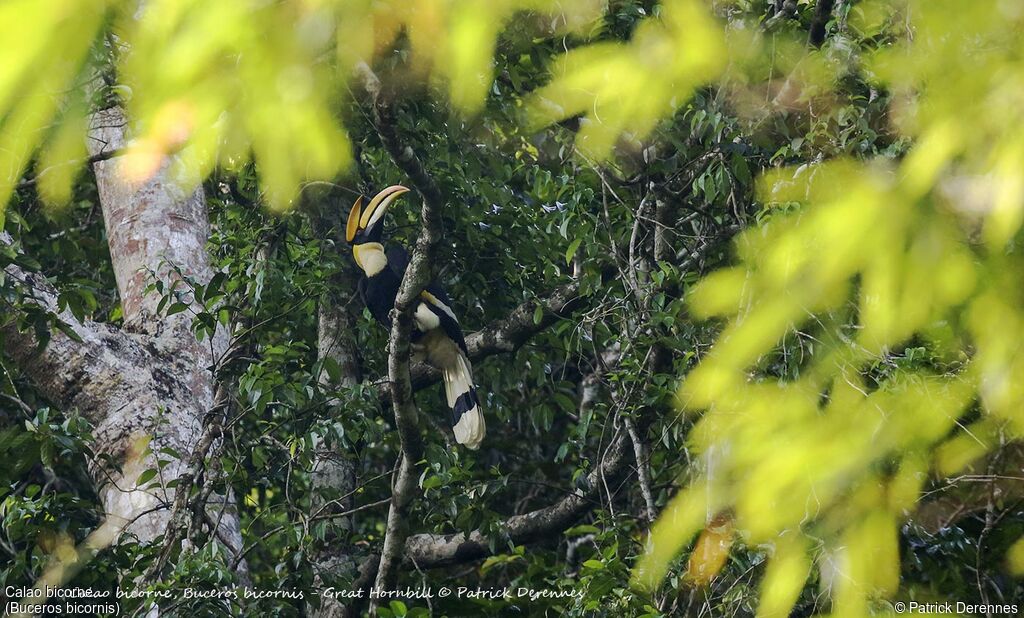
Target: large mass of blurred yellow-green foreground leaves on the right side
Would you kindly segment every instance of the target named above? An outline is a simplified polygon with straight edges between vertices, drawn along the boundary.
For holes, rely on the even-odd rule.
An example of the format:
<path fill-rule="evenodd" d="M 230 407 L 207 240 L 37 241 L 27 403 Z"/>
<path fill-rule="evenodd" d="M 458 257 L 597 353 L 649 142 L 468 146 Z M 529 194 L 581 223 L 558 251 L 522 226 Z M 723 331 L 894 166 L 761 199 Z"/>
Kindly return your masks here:
<path fill-rule="evenodd" d="M 863 614 L 899 589 L 899 527 L 929 472 L 959 474 L 1022 437 L 1024 14 L 953 7 L 857 7 L 867 45 L 845 69 L 892 93 L 911 147 L 765 174 L 761 202 L 790 212 L 744 232 L 739 264 L 690 292 L 695 317 L 724 319 L 678 395 L 705 411 L 691 434 L 705 473 L 653 530 L 639 583 L 729 510 L 743 542 L 775 546 L 761 615 L 787 614 L 826 560 L 834 613 Z M 880 38 L 894 42 L 872 48 Z M 773 374 L 765 361 L 793 334 L 811 347 Z M 933 361 L 874 369 L 912 345 Z"/>

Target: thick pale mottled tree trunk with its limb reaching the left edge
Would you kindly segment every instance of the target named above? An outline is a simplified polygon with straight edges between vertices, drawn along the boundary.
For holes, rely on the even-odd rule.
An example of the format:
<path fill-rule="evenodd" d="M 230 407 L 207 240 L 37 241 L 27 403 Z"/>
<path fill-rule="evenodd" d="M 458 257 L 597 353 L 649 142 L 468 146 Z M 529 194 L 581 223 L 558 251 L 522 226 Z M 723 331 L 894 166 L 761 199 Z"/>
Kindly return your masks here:
<path fill-rule="evenodd" d="M 91 153 L 120 150 L 125 144 L 123 112 L 95 114 Z M 198 342 L 187 312 L 160 316 L 159 296 L 145 294 L 153 278 L 170 285 L 180 278 L 178 272 L 198 282 L 210 279 L 209 221 L 202 188 L 181 189 L 170 178 L 170 162 L 148 180 L 132 184 L 122 173 L 124 161 L 113 157 L 94 166 L 124 326 L 80 322 L 66 311 L 60 318 L 81 341 L 55 332 L 42 350 L 31 333 L 17 333 L 13 324 L 3 328 L 6 353 L 39 391 L 93 424 L 95 451 L 101 456 L 91 472 L 106 516 L 128 534 L 148 542 L 167 528 L 174 498 L 168 485 L 183 472 L 182 459 L 191 452 L 203 417 L 213 406 L 216 385 L 211 367 L 225 349 L 226 335 Z M 56 292 L 43 277 L 13 266 L 6 274 L 25 281 L 40 305 L 56 310 Z M 108 457 L 117 465 L 99 462 Z M 158 469 L 158 458 L 168 462 L 140 486 L 139 476 Z M 218 515 L 217 537 L 239 549 L 233 504 L 224 500 L 211 509 L 224 509 Z"/>

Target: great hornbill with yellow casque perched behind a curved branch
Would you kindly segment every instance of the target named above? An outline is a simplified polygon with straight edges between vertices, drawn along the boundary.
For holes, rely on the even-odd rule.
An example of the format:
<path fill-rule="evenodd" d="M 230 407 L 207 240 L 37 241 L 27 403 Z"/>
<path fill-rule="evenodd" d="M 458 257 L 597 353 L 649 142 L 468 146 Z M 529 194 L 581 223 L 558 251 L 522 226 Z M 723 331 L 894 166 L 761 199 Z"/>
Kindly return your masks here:
<path fill-rule="evenodd" d="M 388 327 L 398 285 L 409 266 L 409 253 L 393 245 L 385 249 L 381 242 L 384 211 L 408 191 L 401 185 L 389 186 L 377 193 L 366 210 L 360 195 L 352 205 L 345 227 L 345 239 L 352 246 L 352 257 L 364 272 L 359 278 L 359 297 L 374 318 Z M 411 340 L 414 355 L 441 371 L 455 439 L 469 448 L 479 448 L 486 426 L 473 388 L 473 367 L 452 302 L 437 281 L 430 281 L 420 293 Z"/>

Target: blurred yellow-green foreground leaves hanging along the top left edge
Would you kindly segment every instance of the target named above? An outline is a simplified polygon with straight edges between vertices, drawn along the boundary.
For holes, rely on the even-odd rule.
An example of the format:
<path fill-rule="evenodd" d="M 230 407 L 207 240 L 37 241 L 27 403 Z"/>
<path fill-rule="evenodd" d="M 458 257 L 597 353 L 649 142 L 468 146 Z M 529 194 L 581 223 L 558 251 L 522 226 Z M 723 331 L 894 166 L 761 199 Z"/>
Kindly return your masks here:
<path fill-rule="evenodd" d="M 40 146 L 41 193 L 67 202 L 85 163 L 86 103 L 105 84 L 133 124 L 126 166 L 133 180 L 152 176 L 171 152 L 190 184 L 216 165 L 254 158 L 267 203 L 286 209 L 304 180 L 350 165 L 338 101 L 356 65 L 396 38 L 411 56 L 396 81 L 437 82 L 457 108 L 474 112 L 513 15 L 544 16 L 538 25 L 550 35 L 585 31 L 600 7 L 597 0 L 5 3 L 0 204 Z"/>

